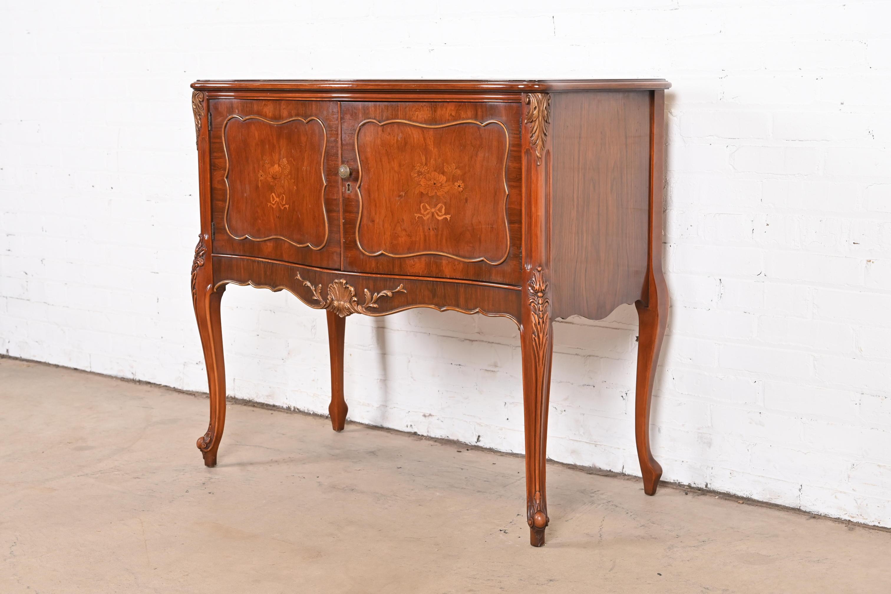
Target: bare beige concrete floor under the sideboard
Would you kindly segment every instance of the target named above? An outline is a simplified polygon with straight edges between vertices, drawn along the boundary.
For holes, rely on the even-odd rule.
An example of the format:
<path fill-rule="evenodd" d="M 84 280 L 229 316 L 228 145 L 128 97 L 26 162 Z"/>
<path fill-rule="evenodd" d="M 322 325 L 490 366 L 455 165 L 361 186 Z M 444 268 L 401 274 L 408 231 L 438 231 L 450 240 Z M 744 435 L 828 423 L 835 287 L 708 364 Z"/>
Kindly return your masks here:
<path fill-rule="evenodd" d="M 882 592 L 891 533 L 0 359 L 0 592 Z M 459 451 L 460 450 L 460 451 Z"/>

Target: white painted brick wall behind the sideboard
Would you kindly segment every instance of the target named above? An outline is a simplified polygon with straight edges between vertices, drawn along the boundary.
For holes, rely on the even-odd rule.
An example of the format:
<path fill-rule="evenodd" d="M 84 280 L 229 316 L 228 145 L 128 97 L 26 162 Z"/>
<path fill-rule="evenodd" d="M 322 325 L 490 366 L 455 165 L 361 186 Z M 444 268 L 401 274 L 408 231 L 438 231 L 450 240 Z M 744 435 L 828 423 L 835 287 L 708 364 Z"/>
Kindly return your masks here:
<path fill-rule="evenodd" d="M 666 77 L 665 478 L 891 526 L 889 20 L 862 0 L 4 3 L 0 351 L 206 389 L 196 78 Z M 224 304 L 230 393 L 326 411 L 323 314 Z M 639 472 L 636 324 L 556 324 L 553 459 Z M 351 419 L 522 451 L 510 321 L 354 316 L 346 367 Z"/>

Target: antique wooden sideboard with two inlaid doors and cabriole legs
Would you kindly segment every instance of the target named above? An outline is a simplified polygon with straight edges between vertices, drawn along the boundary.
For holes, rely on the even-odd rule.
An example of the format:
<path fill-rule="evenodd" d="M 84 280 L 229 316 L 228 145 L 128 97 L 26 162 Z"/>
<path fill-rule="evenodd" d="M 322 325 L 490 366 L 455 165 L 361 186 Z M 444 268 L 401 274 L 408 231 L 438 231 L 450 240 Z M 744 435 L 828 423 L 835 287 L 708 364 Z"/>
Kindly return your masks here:
<path fill-rule="evenodd" d="M 344 427 L 346 316 L 412 307 L 519 328 L 527 522 L 544 544 L 552 321 L 640 319 L 635 429 L 644 491 L 650 394 L 666 328 L 662 79 L 198 81 L 200 220 L 192 302 L 217 463 L 227 283 L 323 309 L 331 425 Z"/>

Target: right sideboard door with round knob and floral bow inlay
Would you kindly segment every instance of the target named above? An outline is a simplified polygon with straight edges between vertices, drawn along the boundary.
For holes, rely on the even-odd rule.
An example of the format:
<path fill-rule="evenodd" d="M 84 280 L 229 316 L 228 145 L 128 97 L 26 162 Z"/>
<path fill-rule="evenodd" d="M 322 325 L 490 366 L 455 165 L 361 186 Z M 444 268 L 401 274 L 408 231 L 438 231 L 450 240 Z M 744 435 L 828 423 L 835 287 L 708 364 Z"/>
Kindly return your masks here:
<path fill-rule="evenodd" d="M 518 103 L 341 104 L 344 267 L 517 284 Z"/>

